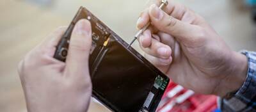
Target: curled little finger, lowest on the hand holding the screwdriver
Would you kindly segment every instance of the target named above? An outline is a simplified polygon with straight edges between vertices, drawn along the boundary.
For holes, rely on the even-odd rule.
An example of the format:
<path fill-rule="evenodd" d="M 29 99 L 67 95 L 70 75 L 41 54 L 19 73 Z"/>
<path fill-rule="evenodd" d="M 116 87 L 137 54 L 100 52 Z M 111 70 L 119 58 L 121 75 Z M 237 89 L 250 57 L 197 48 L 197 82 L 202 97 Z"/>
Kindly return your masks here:
<path fill-rule="evenodd" d="M 172 56 L 170 56 L 170 58 L 168 59 L 157 58 L 147 53 L 144 56 L 148 61 L 150 61 L 156 67 L 170 65 L 172 63 Z"/>

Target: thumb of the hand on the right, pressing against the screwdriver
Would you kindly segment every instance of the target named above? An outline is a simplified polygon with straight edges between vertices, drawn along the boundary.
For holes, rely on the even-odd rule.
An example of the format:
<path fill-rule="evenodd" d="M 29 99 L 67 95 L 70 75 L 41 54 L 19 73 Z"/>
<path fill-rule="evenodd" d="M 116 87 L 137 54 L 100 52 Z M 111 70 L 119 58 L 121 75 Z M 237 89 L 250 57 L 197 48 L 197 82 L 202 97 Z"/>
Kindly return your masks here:
<path fill-rule="evenodd" d="M 200 34 L 200 26 L 175 19 L 158 8 L 156 4 L 150 6 L 148 13 L 153 26 L 160 31 L 175 36 L 178 41 L 187 42 L 189 40 L 195 40 L 198 34 Z"/>

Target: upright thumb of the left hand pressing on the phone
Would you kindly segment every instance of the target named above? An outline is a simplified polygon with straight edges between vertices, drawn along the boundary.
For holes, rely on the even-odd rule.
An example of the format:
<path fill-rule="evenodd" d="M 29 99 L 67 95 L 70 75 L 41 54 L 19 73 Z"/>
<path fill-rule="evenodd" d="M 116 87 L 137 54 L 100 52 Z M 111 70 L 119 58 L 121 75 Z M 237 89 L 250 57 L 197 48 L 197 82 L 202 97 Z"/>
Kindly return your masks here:
<path fill-rule="evenodd" d="M 79 20 L 74 27 L 68 47 L 66 67 L 68 72 L 72 74 L 88 74 L 91 45 L 92 26 L 88 20 Z"/>

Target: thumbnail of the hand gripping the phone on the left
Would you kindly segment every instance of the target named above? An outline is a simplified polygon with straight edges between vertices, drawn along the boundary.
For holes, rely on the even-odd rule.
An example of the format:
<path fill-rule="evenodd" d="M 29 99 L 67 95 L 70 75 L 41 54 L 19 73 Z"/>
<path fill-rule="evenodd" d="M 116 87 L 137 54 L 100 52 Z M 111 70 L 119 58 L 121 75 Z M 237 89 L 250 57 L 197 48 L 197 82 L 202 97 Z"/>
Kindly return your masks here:
<path fill-rule="evenodd" d="M 76 24 L 75 33 L 77 35 L 88 35 L 89 29 L 85 20 L 79 20 Z"/>

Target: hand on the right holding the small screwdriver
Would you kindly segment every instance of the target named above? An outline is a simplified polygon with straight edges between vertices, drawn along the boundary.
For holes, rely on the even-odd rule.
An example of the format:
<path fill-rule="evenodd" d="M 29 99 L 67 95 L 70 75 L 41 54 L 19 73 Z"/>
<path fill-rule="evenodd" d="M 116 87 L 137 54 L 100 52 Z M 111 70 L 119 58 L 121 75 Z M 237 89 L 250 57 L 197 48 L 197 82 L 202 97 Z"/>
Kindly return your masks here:
<path fill-rule="evenodd" d="M 232 51 L 200 15 L 169 0 L 164 11 L 152 0 L 138 19 L 145 57 L 172 81 L 197 93 L 224 96 L 246 79 L 246 56 Z"/>

